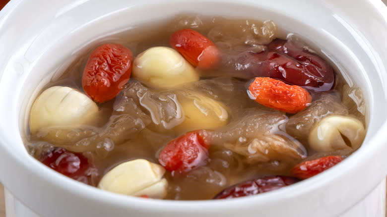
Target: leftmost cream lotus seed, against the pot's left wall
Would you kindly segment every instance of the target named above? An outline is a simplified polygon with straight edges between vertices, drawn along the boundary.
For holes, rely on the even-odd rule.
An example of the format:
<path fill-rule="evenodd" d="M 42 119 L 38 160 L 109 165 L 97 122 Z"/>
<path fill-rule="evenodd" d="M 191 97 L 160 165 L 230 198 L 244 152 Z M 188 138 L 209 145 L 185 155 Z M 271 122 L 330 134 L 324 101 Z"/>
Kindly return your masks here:
<path fill-rule="evenodd" d="M 74 128 L 92 122 L 98 106 L 83 93 L 62 86 L 43 91 L 30 111 L 32 134 L 46 127 Z"/>

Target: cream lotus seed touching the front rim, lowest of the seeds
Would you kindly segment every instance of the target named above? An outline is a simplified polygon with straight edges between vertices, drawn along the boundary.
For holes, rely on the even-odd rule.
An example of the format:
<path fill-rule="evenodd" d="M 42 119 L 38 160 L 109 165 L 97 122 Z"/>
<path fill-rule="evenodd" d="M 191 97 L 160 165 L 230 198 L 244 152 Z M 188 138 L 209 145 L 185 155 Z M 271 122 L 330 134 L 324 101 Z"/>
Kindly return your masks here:
<path fill-rule="evenodd" d="M 164 173 L 165 169 L 159 164 L 136 159 L 121 163 L 107 172 L 98 188 L 119 194 L 162 199 L 168 187 L 167 180 L 163 178 Z"/>

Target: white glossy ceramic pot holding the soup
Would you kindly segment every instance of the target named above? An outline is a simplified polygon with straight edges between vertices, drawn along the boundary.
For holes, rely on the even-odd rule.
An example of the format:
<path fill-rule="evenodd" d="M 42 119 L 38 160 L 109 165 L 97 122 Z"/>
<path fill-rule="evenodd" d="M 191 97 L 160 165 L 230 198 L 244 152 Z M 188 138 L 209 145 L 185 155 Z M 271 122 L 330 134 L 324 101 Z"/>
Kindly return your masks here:
<path fill-rule="evenodd" d="M 177 13 L 272 19 L 320 47 L 363 89 L 363 146 L 322 174 L 265 194 L 162 201 L 86 186 L 26 152 L 31 99 L 101 38 Z M 380 0 L 11 0 L 0 11 L 0 181 L 8 217 L 382 217 L 387 171 L 387 8 Z"/>

